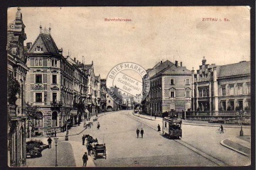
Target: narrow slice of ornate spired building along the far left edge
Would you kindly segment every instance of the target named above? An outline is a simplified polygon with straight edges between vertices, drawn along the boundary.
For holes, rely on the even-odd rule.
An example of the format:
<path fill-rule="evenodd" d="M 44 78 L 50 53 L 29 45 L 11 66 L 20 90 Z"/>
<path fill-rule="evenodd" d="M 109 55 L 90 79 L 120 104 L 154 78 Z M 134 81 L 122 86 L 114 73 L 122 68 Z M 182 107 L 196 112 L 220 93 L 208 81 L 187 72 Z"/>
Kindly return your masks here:
<path fill-rule="evenodd" d="M 25 81 L 28 67 L 24 55 L 23 42 L 26 40 L 25 25 L 22 21 L 21 8 L 16 12 L 15 21 L 9 24 L 7 30 L 7 61 L 8 79 L 16 79 L 21 93 L 16 96 L 17 100 L 8 101 L 8 164 L 9 166 L 26 165 L 26 113 L 25 105 Z M 13 91 L 12 85 L 8 84 L 8 91 Z M 10 96 L 8 96 L 10 97 Z"/>

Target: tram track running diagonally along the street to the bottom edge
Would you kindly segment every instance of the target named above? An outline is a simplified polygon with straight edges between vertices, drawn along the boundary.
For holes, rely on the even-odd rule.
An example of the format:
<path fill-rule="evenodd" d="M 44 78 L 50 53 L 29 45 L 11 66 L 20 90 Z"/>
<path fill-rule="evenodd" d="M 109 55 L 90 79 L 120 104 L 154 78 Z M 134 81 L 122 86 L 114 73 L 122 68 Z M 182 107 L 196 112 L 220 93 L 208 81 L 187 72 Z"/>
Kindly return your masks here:
<path fill-rule="evenodd" d="M 130 115 L 129 113 L 126 113 L 126 115 L 127 115 L 127 117 L 132 118 L 133 120 L 136 120 L 137 122 L 142 123 L 142 124 L 146 125 L 147 127 L 151 128 L 151 129 L 153 129 L 157 132 L 156 127 L 153 127 L 152 125 L 148 125 L 144 121 L 139 120 L 138 118 L 135 118 L 134 116 Z M 214 164 L 216 164 L 218 166 L 230 166 L 229 164 L 221 161 L 220 159 L 217 159 L 213 156 L 210 156 L 206 152 L 201 151 L 201 149 L 193 147 L 192 145 L 188 144 L 187 142 L 184 142 L 182 140 L 174 140 L 174 141 L 177 142 L 178 144 L 182 145 L 183 147 L 191 149 L 191 151 L 196 152 L 196 154 L 201 155 L 202 157 L 208 159 L 210 162 L 213 162 Z"/>

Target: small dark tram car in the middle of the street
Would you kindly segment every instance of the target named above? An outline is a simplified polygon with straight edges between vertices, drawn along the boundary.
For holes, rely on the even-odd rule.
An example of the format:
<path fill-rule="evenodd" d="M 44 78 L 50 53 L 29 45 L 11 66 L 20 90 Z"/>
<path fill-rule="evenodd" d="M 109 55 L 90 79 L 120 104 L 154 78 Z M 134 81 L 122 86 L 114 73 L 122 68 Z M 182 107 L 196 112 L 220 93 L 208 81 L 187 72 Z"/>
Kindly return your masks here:
<path fill-rule="evenodd" d="M 182 120 L 174 119 L 174 118 L 164 118 L 163 119 L 163 134 L 169 138 L 182 137 L 182 129 L 181 129 Z"/>

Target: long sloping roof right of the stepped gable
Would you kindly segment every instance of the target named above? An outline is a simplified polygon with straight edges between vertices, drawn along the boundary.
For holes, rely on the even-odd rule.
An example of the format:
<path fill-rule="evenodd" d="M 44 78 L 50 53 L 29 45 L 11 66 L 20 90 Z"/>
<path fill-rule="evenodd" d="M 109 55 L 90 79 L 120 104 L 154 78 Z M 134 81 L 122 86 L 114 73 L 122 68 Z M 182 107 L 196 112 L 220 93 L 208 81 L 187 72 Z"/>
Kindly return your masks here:
<path fill-rule="evenodd" d="M 250 74 L 250 62 L 238 62 L 235 64 L 217 67 L 217 77 L 232 77 L 235 75 Z"/>

